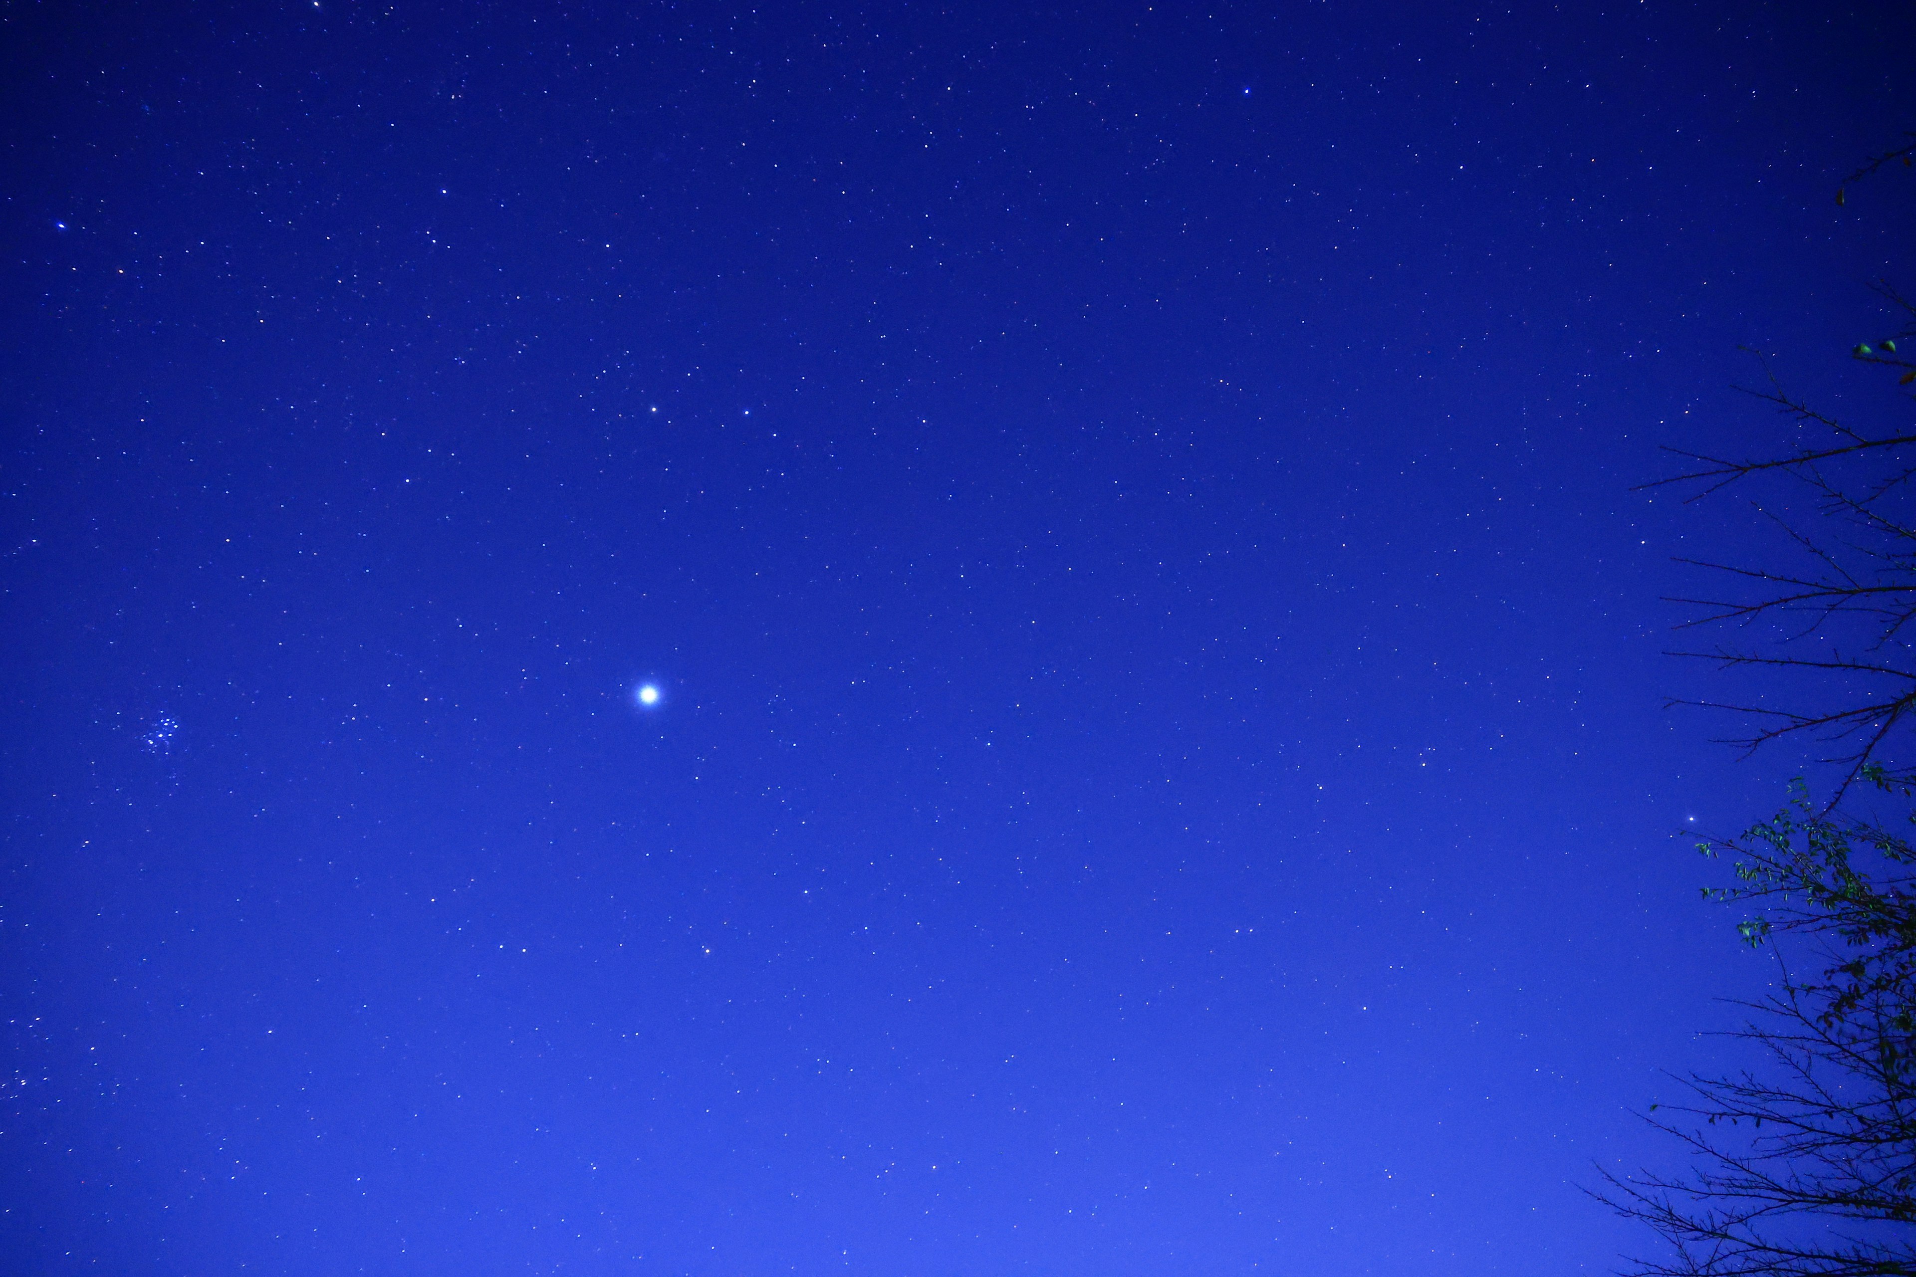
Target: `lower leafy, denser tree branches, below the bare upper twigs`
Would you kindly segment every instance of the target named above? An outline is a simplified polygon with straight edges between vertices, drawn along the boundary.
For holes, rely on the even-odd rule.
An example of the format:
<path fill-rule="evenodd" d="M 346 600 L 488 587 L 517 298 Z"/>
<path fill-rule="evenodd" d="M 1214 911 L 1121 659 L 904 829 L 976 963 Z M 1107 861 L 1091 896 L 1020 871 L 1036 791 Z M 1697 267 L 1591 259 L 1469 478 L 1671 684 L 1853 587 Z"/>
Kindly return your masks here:
<path fill-rule="evenodd" d="M 1866 781 L 1910 819 L 1910 789 Z M 1916 1273 L 1916 848 L 1878 821 L 1790 806 L 1738 839 L 1736 886 L 1705 894 L 1759 913 L 1751 944 L 1809 940 L 1814 975 L 1742 1003 L 1761 1072 L 1684 1078 L 1648 1120 L 1688 1149 L 1686 1174 L 1606 1176 L 1604 1200 L 1650 1223 L 1675 1258 L 1638 1273 L 1845 1277 Z"/>

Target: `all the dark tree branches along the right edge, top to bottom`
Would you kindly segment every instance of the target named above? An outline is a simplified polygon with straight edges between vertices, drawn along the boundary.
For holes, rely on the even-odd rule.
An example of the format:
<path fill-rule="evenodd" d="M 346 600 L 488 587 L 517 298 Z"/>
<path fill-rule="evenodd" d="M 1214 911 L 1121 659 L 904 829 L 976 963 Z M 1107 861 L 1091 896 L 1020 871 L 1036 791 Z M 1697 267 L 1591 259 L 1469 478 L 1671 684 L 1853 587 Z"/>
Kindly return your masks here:
<path fill-rule="evenodd" d="M 1912 159 L 1916 146 L 1878 155 L 1845 188 Z M 1851 358 L 1899 373 L 1916 398 L 1916 304 L 1878 291 L 1905 325 Z M 1916 726 L 1916 433 L 1837 421 L 1763 371 L 1749 392 L 1790 419 L 1793 442 L 1753 459 L 1680 454 L 1696 467 L 1661 482 L 1701 500 L 1784 481 L 1757 509 L 1799 555 L 1793 567 L 1686 559 L 1724 590 L 1676 599 L 1698 609 L 1682 628 L 1732 624 L 1745 645 L 1675 655 L 1803 676 L 1805 708 L 1709 705 L 1753 724 L 1745 749 L 1807 733 L 1836 747 L 1841 770 L 1826 802 L 1797 783 L 1770 819 L 1699 846 L 1734 863 L 1734 885 L 1703 894 L 1753 907 L 1742 934 L 1776 959 L 1776 992 L 1738 1003 L 1747 1019 L 1728 1034 L 1759 1063 L 1680 1078 L 1686 1099 L 1646 1120 L 1688 1166 L 1604 1172 L 1598 1197 L 1669 1243 L 1634 1273 L 1916 1277 L 1916 770 L 1893 762 Z"/>

